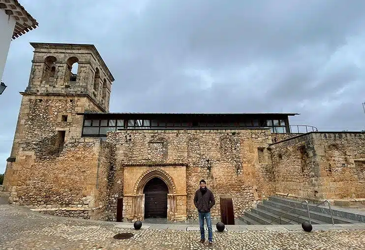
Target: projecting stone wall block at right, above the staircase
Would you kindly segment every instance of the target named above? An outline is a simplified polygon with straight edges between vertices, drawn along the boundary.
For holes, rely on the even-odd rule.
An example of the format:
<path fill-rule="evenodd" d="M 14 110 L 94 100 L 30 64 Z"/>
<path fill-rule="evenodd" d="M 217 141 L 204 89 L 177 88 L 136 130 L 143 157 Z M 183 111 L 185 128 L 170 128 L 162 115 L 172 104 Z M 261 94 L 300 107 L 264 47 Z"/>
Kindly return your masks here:
<path fill-rule="evenodd" d="M 309 133 L 270 146 L 276 192 L 311 200 L 364 198 L 364 133 Z"/>

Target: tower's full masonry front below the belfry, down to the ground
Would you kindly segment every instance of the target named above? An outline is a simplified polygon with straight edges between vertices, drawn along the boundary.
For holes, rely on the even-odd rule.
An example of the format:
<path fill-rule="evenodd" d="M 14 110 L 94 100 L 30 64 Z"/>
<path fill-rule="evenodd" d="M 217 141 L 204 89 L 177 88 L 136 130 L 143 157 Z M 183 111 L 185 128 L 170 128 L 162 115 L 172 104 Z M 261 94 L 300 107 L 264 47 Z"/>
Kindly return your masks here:
<path fill-rule="evenodd" d="M 87 97 L 25 95 L 4 185 L 10 202 L 33 209 L 94 207 L 99 141 L 81 138 Z M 67 115 L 67 121 L 62 121 Z M 65 131 L 60 143 L 58 131 Z M 88 155 L 88 157 L 85 157 Z M 81 213 L 80 213 L 81 214 Z"/>

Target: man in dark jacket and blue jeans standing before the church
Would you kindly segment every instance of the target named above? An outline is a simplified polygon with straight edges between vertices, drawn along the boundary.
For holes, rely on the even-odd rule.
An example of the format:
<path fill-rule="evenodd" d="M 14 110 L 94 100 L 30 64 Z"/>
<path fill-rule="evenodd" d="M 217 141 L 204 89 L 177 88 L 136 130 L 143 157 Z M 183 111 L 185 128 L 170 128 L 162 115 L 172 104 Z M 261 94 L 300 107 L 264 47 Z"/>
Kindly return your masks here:
<path fill-rule="evenodd" d="M 200 188 L 196 190 L 194 196 L 194 205 L 199 212 L 199 225 L 200 225 L 200 243 L 205 242 L 204 233 L 204 218 L 207 220 L 208 226 L 208 245 L 212 246 L 213 243 L 213 229 L 212 229 L 212 218 L 211 208 L 215 204 L 214 195 L 211 190 L 207 188 L 207 184 L 204 179 L 199 182 Z"/>

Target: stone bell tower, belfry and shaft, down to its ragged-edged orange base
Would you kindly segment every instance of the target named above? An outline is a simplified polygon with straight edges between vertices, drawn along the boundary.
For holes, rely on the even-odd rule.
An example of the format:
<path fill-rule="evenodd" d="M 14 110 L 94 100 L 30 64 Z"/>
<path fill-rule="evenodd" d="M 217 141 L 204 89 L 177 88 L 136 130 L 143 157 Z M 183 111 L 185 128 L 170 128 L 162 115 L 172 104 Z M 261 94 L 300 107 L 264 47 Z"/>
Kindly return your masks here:
<path fill-rule="evenodd" d="M 59 161 L 62 150 L 83 141 L 79 113 L 109 112 L 114 81 L 94 45 L 30 44 L 34 56 L 29 84 L 20 93 L 22 103 L 3 183 L 14 188 L 25 171 L 38 168 L 40 159 Z"/>

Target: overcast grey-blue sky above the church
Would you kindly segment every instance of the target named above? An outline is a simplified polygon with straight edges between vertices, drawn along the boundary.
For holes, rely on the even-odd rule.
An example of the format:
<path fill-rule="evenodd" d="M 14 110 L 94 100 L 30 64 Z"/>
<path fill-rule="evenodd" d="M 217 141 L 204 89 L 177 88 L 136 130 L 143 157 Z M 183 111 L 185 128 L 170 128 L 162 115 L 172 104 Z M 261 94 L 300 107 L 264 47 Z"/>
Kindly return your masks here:
<path fill-rule="evenodd" d="M 365 129 L 364 0 L 20 0 L 39 27 L 11 42 L 0 173 L 29 80 L 29 42 L 94 44 L 111 112 L 298 112 Z"/>

